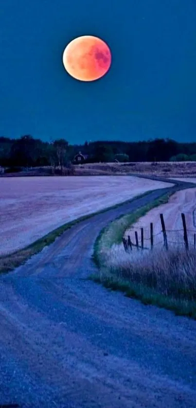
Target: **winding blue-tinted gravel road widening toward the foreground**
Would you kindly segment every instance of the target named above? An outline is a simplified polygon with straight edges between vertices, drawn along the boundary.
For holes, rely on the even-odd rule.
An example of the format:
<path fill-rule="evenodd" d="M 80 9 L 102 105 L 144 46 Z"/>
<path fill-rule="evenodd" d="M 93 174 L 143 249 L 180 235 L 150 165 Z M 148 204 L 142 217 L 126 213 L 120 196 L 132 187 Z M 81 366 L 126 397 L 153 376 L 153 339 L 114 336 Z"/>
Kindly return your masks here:
<path fill-rule="evenodd" d="M 0 276 L 0 404 L 196 407 L 196 321 L 84 279 L 99 231 L 163 191 L 76 224 Z"/>

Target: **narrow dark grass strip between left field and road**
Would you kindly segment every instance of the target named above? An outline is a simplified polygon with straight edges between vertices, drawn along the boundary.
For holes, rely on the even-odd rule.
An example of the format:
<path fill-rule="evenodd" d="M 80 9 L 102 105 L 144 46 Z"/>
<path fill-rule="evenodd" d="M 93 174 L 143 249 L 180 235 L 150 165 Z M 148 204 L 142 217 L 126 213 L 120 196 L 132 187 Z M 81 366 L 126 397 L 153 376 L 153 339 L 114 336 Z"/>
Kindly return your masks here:
<path fill-rule="evenodd" d="M 12 254 L 9 255 L 4 255 L 0 257 L 0 273 L 5 273 L 5 272 L 10 272 L 11 270 L 15 269 L 16 267 L 24 264 L 31 256 L 35 255 L 36 253 L 40 252 L 44 247 L 52 244 L 57 237 L 63 234 L 63 232 L 69 230 L 72 226 L 75 224 L 78 224 L 81 221 L 84 221 L 88 218 L 93 217 L 94 215 L 105 213 L 108 210 L 113 210 L 115 208 L 118 208 L 122 206 L 123 204 L 130 203 L 134 200 L 136 200 L 139 197 L 144 197 L 145 195 L 148 195 L 149 193 L 156 191 L 156 190 L 151 190 L 143 193 L 142 195 L 137 195 L 131 200 L 126 200 L 122 203 L 115 204 L 111 207 L 107 207 L 103 210 L 97 211 L 95 213 L 91 213 L 88 215 L 84 215 L 82 217 L 79 217 L 71 222 L 68 222 L 61 227 L 49 232 L 49 234 L 43 236 L 42 238 L 38 239 L 35 241 L 33 244 L 28 245 L 25 248 L 19 249 Z"/>

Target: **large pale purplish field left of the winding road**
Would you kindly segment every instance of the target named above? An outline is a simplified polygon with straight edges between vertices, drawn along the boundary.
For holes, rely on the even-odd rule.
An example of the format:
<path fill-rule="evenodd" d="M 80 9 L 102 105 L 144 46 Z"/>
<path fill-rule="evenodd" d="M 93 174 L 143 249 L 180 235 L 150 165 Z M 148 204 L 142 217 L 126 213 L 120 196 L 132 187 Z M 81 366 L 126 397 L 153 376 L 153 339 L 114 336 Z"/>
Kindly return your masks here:
<path fill-rule="evenodd" d="M 172 185 L 129 176 L 0 178 L 0 255 L 82 215 Z"/>

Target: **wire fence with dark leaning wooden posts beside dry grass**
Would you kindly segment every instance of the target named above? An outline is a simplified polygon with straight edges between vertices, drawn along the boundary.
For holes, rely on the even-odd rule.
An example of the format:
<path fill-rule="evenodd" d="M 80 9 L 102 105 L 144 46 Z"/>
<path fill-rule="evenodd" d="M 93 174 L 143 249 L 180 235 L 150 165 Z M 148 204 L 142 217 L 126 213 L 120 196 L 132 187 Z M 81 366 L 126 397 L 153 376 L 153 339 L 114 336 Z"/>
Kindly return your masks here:
<path fill-rule="evenodd" d="M 187 215 L 189 215 L 187 213 Z M 182 228 L 178 230 L 166 230 L 164 216 L 160 214 L 161 231 L 154 233 L 153 223 L 150 223 L 150 228 L 142 227 L 140 222 L 137 222 L 137 227 L 130 227 L 127 238 L 123 238 L 125 251 L 136 248 L 137 250 L 149 250 L 162 245 L 166 250 L 169 246 L 185 247 L 186 251 L 190 248 L 196 249 L 196 229 L 187 229 L 185 213 L 181 213 Z M 193 225 L 195 227 L 195 212 L 193 212 Z M 140 232 L 139 232 L 140 231 Z M 159 238 L 158 238 L 159 236 Z M 173 237 L 173 239 L 172 239 Z"/>

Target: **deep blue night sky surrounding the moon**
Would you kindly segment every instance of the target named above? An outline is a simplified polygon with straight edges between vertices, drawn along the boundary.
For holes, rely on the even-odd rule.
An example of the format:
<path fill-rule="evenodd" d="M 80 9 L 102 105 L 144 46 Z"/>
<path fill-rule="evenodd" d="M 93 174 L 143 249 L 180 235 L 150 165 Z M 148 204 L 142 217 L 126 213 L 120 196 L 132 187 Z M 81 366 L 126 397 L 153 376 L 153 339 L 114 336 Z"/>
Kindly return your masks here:
<path fill-rule="evenodd" d="M 86 83 L 62 53 L 79 35 L 112 52 Z M 196 0 L 0 0 L 0 136 L 196 141 Z"/>

